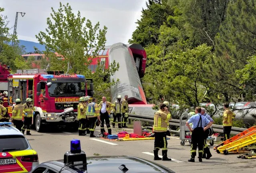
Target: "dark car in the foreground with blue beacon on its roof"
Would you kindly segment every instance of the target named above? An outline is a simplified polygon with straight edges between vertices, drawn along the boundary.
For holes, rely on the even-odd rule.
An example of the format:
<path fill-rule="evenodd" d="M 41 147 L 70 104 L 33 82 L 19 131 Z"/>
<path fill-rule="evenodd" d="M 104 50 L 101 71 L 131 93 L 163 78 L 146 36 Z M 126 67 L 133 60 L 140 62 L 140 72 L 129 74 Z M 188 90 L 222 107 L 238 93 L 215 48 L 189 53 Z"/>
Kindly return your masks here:
<path fill-rule="evenodd" d="M 131 156 L 86 157 L 79 139 L 71 140 L 71 151 L 61 161 L 41 163 L 32 173 L 174 173 L 167 167 Z"/>

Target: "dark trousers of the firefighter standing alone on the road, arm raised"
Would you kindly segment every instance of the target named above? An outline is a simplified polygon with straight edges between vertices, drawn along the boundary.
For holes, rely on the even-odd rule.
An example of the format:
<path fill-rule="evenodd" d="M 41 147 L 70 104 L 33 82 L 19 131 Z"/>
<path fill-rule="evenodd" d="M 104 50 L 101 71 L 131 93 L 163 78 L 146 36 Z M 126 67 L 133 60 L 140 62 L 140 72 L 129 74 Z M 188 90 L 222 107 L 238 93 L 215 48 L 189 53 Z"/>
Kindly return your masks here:
<path fill-rule="evenodd" d="M 167 139 L 166 132 L 154 132 L 155 134 L 155 142 L 154 142 L 154 150 L 167 150 Z"/>

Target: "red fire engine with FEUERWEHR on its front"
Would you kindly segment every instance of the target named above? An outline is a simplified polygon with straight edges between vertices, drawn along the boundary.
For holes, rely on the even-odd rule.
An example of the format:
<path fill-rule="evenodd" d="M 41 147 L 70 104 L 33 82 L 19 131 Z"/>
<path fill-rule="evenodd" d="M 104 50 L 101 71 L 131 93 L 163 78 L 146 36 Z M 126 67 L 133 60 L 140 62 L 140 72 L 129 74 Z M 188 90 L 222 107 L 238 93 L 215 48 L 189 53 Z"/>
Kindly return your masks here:
<path fill-rule="evenodd" d="M 36 109 L 33 124 L 36 131 L 42 131 L 47 124 L 75 127 L 79 98 L 93 96 L 93 83 L 91 79 L 78 74 L 60 71 L 46 73 L 38 69 L 17 70 L 17 74 L 8 76 L 8 97 L 11 95 L 14 102 L 17 98 L 22 103 L 27 97 L 33 99 Z M 10 116 L 12 107 L 8 106 Z"/>

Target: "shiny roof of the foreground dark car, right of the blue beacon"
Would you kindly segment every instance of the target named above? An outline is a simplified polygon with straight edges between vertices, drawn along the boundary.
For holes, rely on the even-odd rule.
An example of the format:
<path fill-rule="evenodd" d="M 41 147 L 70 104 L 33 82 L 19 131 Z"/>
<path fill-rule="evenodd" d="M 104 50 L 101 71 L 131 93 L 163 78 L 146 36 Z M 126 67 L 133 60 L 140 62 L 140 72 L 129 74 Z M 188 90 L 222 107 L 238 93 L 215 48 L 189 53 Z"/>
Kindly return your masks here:
<path fill-rule="evenodd" d="M 87 157 L 87 173 L 122 173 L 119 169 L 122 164 L 129 169 L 127 173 L 174 173 L 167 167 L 132 156 Z"/>

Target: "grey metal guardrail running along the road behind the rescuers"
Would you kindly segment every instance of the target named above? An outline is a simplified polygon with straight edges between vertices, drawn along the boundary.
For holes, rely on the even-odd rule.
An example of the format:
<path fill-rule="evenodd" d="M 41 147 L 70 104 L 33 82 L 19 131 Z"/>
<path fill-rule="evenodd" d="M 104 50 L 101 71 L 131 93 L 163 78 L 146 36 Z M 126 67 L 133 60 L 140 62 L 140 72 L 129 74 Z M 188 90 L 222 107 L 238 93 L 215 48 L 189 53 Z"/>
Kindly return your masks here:
<path fill-rule="evenodd" d="M 138 114 L 129 113 L 129 119 L 139 119 L 140 121 L 154 122 L 154 117 L 150 115 L 138 115 Z M 183 122 L 186 122 L 186 121 L 183 120 Z M 179 126 L 179 119 L 171 119 L 169 121 L 169 124 Z M 223 132 L 222 125 L 213 124 L 212 128 L 214 129 L 214 132 Z M 232 127 L 230 134 L 237 135 L 238 133 L 241 133 L 242 131 L 245 131 L 245 130 L 246 130 L 245 128 Z"/>

